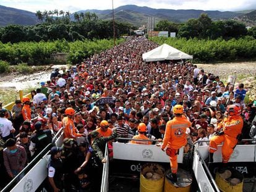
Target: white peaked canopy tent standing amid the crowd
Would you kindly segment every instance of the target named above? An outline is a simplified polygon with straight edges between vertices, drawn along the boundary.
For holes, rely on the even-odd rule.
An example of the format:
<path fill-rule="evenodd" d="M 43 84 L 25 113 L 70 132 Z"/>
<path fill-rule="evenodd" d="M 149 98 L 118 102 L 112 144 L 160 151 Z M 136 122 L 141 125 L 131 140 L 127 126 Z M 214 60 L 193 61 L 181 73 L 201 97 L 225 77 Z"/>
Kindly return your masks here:
<path fill-rule="evenodd" d="M 163 60 L 177 60 L 177 59 L 193 59 L 193 56 L 189 56 L 185 52 L 169 46 L 168 44 L 162 44 L 158 48 L 142 54 L 143 61 L 163 61 Z"/>

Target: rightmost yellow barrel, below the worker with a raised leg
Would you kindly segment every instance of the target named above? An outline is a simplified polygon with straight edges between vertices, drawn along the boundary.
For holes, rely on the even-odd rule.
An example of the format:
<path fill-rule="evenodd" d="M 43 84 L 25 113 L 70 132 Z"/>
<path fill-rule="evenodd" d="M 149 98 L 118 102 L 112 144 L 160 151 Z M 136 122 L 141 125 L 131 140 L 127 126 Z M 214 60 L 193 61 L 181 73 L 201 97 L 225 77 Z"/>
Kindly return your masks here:
<path fill-rule="evenodd" d="M 215 182 L 223 192 L 236 191 L 242 192 L 244 177 L 236 169 L 230 168 L 224 173 L 216 173 Z"/>

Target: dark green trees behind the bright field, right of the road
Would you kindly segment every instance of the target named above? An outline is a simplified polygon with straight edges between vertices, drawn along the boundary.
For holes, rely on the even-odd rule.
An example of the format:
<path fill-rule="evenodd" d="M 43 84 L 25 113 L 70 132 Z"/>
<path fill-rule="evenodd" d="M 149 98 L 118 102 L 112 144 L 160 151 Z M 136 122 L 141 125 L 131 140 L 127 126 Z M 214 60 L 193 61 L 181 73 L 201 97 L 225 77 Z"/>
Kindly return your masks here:
<path fill-rule="evenodd" d="M 256 27 L 247 28 L 244 23 L 236 20 L 213 21 L 207 14 L 201 14 L 198 19 L 190 19 L 186 23 L 173 23 L 160 20 L 156 24 L 156 31 L 175 32 L 178 38 L 198 38 L 216 40 L 223 38 L 241 38 L 246 35 L 256 38 Z"/>

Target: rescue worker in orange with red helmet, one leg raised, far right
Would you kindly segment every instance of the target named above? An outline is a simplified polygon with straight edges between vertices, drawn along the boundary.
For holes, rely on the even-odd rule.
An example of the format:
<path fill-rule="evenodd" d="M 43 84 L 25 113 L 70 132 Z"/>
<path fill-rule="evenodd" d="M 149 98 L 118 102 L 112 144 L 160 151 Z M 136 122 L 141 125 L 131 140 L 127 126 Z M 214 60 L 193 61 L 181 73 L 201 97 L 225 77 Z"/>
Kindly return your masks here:
<path fill-rule="evenodd" d="M 225 167 L 228 164 L 229 158 L 236 147 L 237 141 L 242 133 L 242 127 L 244 125 L 243 119 L 241 117 L 241 107 L 234 104 L 229 105 L 227 108 L 228 117 L 223 119 L 222 128 L 218 132 L 218 135 L 213 136 L 210 140 L 209 151 L 210 157 L 209 161 L 213 162 L 213 153 L 217 151 L 218 144 L 223 142 L 222 146 L 222 162 L 223 169 L 219 172 L 224 172 Z"/>

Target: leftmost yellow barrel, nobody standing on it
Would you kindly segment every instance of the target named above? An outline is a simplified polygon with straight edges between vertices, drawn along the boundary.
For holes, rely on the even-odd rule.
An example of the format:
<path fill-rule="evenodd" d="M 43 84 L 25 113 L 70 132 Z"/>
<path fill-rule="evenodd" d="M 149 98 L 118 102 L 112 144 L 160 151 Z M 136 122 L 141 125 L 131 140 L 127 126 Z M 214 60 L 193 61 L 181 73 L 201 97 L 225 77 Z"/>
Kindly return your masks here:
<path fill-rule="evenodd" d="M 144 164 L 140 171 L 140 192 L 163 192 L 164 168 L 155 163 Z"/>

